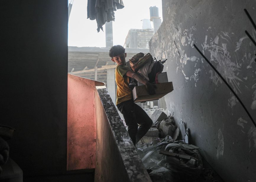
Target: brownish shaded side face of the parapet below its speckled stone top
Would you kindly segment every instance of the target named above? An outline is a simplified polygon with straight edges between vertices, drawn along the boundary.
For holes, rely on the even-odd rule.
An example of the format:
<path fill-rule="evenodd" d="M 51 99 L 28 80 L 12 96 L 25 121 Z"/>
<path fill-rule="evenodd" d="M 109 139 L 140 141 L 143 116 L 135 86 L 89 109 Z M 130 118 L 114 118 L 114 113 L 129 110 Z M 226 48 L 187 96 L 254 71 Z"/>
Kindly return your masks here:
<path fill-rule="evenodd" d="M 97 122 L 95 181 L 129 181 L 98 93 L 94 100 Z"/>

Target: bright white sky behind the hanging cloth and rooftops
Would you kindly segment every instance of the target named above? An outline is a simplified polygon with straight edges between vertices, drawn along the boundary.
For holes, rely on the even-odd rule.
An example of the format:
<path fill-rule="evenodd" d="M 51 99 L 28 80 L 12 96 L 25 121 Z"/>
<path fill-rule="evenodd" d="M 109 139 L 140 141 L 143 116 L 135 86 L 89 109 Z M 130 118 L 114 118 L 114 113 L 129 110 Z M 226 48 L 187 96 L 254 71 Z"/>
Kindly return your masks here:
<path fill-rule="evenodd" d="M 123 0 L 123 2 L 124 8 L 115 11 L 115 21 L 113 21 L 113 44 L 122 46 L 129 29 L 142 29 L 141 20 L 150 19 L 150 6 L 158 7 L 162 19 L 162 0 Z M 87 19 L 87 0 L 74 0 L 69 16 L 68 45 L 105 47 L 105 32 L 98 33 L 96 29 L 96 20 Z M 105 26 L 103 30 L 105 31 Z"/>

